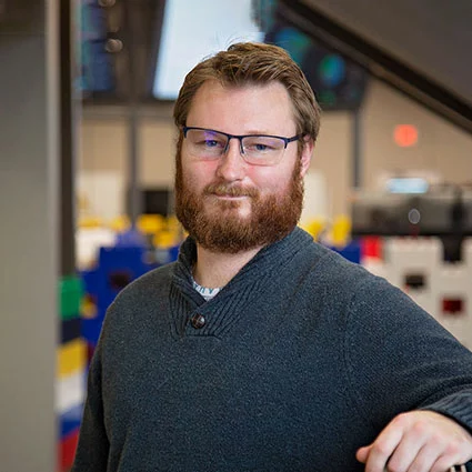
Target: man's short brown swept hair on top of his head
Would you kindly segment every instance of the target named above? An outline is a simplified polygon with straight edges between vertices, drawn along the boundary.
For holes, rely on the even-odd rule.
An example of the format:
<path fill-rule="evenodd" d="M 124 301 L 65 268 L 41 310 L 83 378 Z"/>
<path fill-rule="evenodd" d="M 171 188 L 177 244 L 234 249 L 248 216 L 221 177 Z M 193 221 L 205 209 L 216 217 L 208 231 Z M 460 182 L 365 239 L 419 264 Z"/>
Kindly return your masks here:
<path fill-rule="evenodd" d="M 240 42 L 197 64 L 187 74 L 175 102 L 173 118 L 177 127 L 185 125 L 192 99 L 208 80 L 218 80 L 229 87 L 279 81 L 292 100 L 297 133 L 310 137 L 313 142 L 317 140 L 320 107 L 303 72 L 284 49 Z"/>

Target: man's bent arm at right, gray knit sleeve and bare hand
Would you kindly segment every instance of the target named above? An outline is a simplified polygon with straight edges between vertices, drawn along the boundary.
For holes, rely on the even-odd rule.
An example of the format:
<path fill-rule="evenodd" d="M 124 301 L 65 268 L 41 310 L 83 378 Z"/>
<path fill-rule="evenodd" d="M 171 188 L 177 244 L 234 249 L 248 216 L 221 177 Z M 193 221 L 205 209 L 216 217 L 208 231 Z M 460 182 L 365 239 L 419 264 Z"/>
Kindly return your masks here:
<path fill-rule="evenodd" d="M 365 285 L 369 295 L 351 305 L 349 359 L 351 372 L 362 372 L 351 373 L 360 409 L 380 433 L 358 460 L 368 472 L 386 463 L 389 471 L 443 472 L 470 461 L 472 353 L 396 289 Z"/>

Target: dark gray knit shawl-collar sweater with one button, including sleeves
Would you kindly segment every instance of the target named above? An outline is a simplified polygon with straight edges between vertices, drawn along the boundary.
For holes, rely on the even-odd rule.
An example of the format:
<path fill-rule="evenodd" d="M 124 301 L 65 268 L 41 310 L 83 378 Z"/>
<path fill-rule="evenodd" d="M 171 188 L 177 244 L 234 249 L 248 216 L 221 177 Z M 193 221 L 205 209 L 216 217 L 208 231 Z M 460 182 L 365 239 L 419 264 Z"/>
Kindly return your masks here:
<path fill-rule="evenodd" d="M 361 471 L 402 411 L 472 428 L 472 353 L 384 280 L 295 229 L 205 302 L 194 258 L 109 309 L 73 472 Z"/>

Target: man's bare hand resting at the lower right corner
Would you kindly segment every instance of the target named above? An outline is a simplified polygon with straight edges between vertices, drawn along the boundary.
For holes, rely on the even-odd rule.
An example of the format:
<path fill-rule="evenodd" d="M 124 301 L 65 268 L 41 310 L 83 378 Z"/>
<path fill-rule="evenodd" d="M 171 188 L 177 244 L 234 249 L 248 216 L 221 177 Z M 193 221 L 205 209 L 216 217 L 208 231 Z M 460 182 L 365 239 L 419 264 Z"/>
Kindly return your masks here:
<path fill-rule="evenodd" d="M 411 411 L 395 416 L 355 456 L 365 472 L 445 472 L 472 459 L 472 435 L 440 413 Z"/>

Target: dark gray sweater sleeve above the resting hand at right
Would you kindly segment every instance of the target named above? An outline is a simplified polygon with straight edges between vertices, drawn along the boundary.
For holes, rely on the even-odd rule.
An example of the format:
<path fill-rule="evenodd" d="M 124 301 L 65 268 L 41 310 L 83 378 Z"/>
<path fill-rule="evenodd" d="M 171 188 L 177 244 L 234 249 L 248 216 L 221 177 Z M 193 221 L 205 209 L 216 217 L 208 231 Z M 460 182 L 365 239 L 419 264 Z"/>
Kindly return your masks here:
<path fill-rule="evenodd" d="M 378 278 L 361 283 L 344 348 L 358 413 L 376 430 L 428 409 L 472 432 L 472 352 L 401 290 Z"/>

